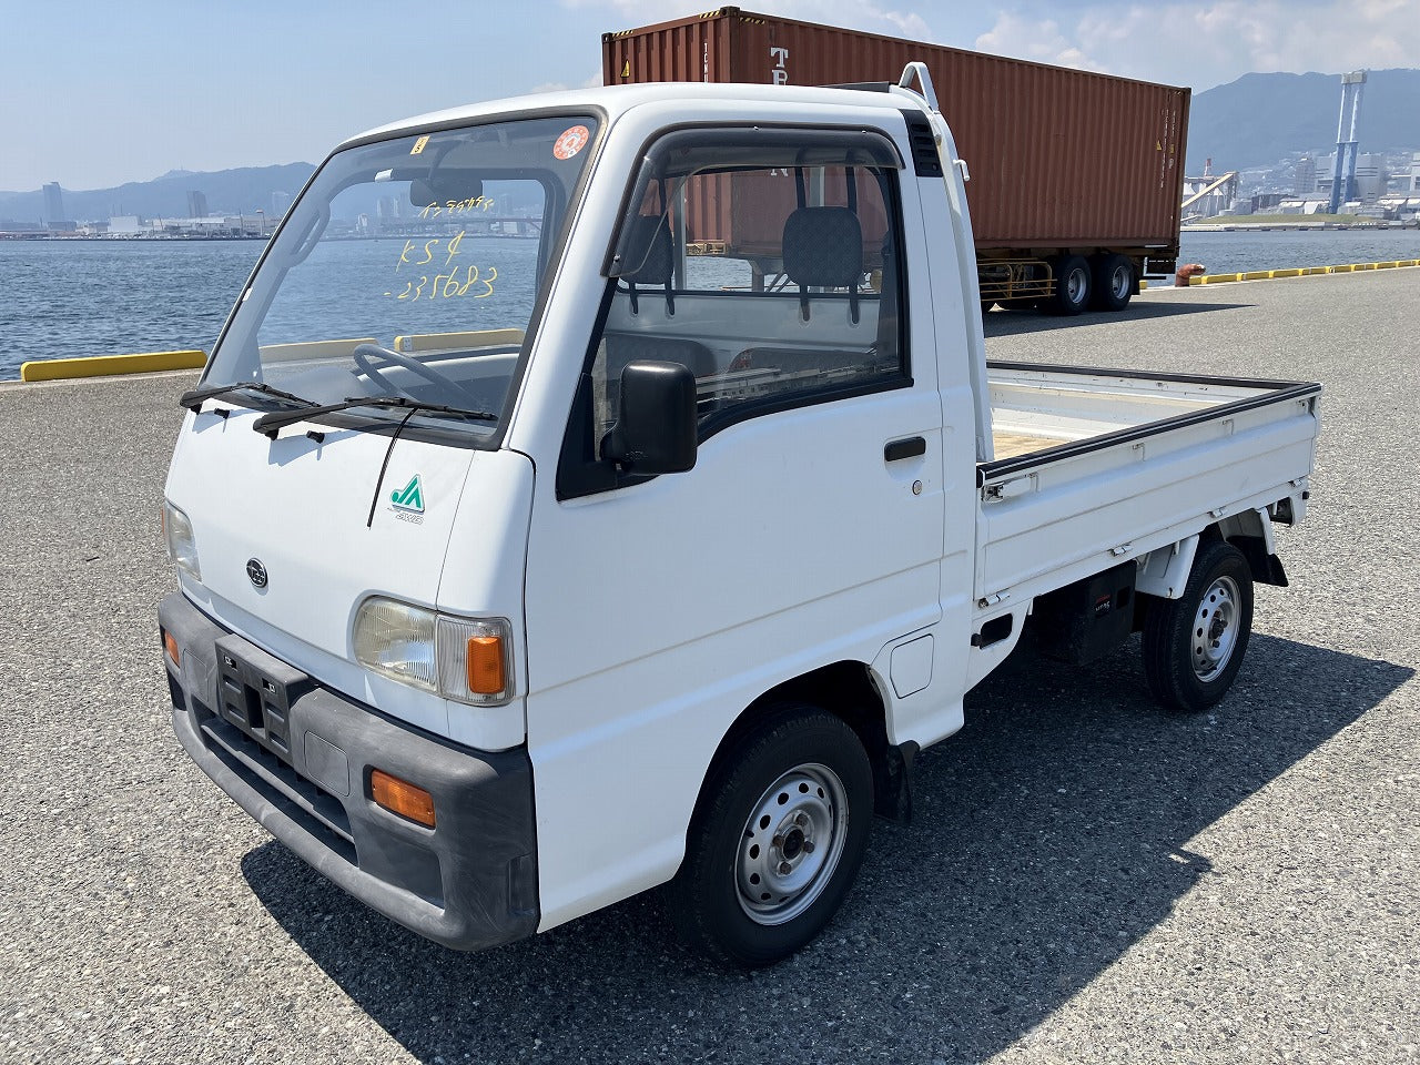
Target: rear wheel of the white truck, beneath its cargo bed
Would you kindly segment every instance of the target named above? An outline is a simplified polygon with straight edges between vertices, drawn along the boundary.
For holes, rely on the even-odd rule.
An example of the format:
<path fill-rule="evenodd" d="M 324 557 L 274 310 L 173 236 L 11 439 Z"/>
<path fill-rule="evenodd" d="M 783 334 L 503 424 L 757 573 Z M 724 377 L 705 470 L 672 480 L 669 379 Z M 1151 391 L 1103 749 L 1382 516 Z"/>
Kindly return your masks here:
<path fill-rule="evenodd" d="M 1252 569 L 1225 540 L 1198 547 L 1179 599 L 1154 599 L 1145 618 L 1149 690 L 1166 709 L 1198 713 L 1233 687 L 1252 635 Z"/>

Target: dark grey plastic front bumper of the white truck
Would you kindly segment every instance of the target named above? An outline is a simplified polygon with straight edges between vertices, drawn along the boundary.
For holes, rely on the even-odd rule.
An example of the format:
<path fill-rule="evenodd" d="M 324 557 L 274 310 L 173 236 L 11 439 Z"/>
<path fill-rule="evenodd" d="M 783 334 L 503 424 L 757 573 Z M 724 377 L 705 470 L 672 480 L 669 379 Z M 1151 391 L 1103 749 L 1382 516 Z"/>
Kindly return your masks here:
<path fill-rule="evenodd" d="M 180 592 L 158 609 L 173 728 L 237 805 L 361 902 L 480 950 L 537 932 L 532 764 L 471 751 L 354 703 L 227 632 Z M 375 804 L 372 768 L 433 795 L 435 828 Z"/>

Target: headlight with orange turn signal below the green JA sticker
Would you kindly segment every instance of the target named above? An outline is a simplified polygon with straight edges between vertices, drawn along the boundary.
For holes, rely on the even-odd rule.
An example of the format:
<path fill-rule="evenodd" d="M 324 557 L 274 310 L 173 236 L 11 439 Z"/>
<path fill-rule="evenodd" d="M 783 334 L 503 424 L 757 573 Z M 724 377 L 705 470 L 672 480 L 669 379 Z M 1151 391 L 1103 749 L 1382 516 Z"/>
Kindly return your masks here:
<path fill-rule="evenodd" d="M 513 697 L 513 632 L 501 618 L 453 618 L 375 596 L 355 615 L 355 660 L 471 706 Z"/>

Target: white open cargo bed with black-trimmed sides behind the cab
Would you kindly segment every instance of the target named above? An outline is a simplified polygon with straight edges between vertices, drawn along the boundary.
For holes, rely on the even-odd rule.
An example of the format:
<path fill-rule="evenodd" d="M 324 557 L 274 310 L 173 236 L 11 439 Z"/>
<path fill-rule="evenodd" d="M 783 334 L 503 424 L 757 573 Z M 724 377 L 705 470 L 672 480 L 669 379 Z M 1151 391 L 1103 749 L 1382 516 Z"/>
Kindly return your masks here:
<path fill-rule="evenodd" d="M 1041 595 L 1311 477 L 1321 385 L 988 364 L 976 598 Z"/>

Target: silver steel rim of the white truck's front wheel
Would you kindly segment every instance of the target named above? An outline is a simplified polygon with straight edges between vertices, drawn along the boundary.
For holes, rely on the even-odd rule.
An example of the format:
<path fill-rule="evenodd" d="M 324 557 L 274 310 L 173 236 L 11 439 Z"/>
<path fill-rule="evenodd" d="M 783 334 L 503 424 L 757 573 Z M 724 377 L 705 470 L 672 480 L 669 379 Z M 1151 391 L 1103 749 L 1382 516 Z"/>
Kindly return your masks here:
<path fill-rule="evenodd" d="M 755 924 L 784 924 L 824 893 L 848 838 L 848 791 L 805 763 L 765 788 L 740 834 L 736 895 Z"/>

